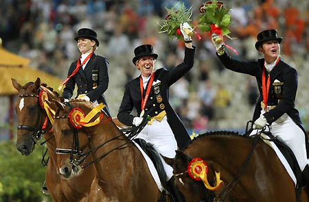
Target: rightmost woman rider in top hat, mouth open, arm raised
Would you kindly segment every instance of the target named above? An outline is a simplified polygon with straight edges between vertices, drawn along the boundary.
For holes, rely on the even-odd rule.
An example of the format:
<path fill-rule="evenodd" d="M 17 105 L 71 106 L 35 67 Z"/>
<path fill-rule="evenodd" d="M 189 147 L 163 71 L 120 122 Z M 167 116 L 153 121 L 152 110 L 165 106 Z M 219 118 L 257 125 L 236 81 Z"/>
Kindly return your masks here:
<path fill-rule="evenodd" d="M 270 125 L 271 134 L 288 145 L 295 154 L 305 183 L 309 184 L 308 138 L 295 108 L 297 71 L 280 58 L 282 38 L 277 36 L 275 29 L 260 32 L 255 49 L 260 51 L 264 58 L 247 62 L 231 58 L 225 51 L 222 37 L 219 40 L 221 42 L 216 43 L 219 37 L 213 34 L 211 40 L 222 64 L 231 71 L 251 75 L 258 82 L 260 97 L 253 114 L 253 129 Z"/>

